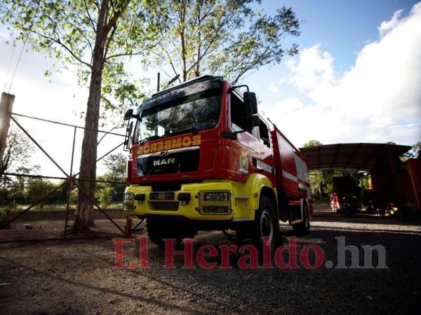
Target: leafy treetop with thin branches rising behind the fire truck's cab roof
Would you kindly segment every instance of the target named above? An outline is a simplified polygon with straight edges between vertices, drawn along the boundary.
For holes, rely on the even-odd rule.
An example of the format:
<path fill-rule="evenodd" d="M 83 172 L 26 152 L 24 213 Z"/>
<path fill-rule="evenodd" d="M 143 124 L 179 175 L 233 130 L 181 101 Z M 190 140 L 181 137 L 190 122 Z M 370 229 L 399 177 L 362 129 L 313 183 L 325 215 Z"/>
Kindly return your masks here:
<path fill-rule="evenodd" d="M 259 0 L 145 1 L 149 20 L 161 25 L 163 41 L 154 50 L 155 62 L 183 81 L 208 72 L 236 83 L 298 52 L 295 43 L 283 47 L 286 36 L 300 34 L 291 8 L 269 16 L 252 8 Z"/>

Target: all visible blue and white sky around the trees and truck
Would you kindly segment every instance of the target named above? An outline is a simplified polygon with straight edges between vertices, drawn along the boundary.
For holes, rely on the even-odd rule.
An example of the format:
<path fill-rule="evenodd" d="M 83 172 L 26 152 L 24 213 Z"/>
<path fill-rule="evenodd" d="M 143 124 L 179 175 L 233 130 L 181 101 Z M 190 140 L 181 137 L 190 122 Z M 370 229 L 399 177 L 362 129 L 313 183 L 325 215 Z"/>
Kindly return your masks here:
<path fill-rule="evenodd" d="M 242 83 L 256 92 L 259 110 L 295 146 L 310 139 L 408 145 L 421 140 L 421 2 L 267 0 L 259 6 L 273 14 L 282 5 L 292 6 L 301 21 L 301 35 L 294 38 L 300 55 L 265 66 Z M 0 86 L 7 92 L 4 83 L 10 83 L 20 45 L 13 49 L 6 41 L 8 33 L 0 27 Z M 77 84 L 76 73 L 53 71 L 45 78 L 46 70 L 53 71 L 53 60 L 30 50 L 22 53 L 11 87 L 13 111 L 83 125 L 78 113 L 88 92 Z M 131 71 L 144 73 L 155 85 L 155 69 L 145 73 L 134 62 Z M 72 128 L 18 119 L 68 172 Z M 79 130 L 74 169 L 81 138 Z M 119 141 L 107 136 L 98 155 Z M 39 151 L 29 162 L 41 165 L 43 174 L 60 175 Z"/>

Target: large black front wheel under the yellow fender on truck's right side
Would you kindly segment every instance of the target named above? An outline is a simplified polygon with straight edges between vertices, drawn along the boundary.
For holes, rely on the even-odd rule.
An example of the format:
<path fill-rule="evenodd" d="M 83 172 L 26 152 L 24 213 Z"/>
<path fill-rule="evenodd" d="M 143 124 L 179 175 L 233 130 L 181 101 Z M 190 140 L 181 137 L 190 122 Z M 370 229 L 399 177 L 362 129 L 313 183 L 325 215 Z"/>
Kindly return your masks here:
<path fill-rule="evenodd" d="M 253 243 L 262 248 L 262 237 L 269 237 L 272 251 L 279 244 L 279 221 L 276 216 L 274 202 L 269 197 L 263 195 L 260 199 L 259 209 L 255 213 L 252 231 Z"/>

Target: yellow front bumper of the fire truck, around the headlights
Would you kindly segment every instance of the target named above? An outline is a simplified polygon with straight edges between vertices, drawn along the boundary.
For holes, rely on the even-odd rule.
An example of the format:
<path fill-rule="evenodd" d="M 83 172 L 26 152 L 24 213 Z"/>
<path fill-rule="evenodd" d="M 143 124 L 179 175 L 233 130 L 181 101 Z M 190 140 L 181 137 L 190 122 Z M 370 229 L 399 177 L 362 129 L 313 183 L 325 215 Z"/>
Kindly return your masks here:
<path fill-rule="evenodd" d="M 231 194 L 228 214 L 203 214 L 200 208 L 200 193 L 213 190 L 227 190 Z M 246 184 L 234 181 L 205 181 L 203 183 L 191 183 L 181 186 L 181 189 L 174 192 L 172 200 L 151 200 L 151 186 L 128 186 L 125 194 L 144 194 L 145 200 L 125 201 L 124 211 L 133 216 L 184 216 L 190 220 L 205 221 L 251 221 L 254 219 L 255 209 L 258 207 L 258 195 L 252 197 Z M 178 202 L 180 193 L 189 193 L 189 202 Z M 251 199 L 251 200 L 250 200 Z M 257 199 L 257 200 L 256 200 Z M 168 207 L 166 207 L 166 202 Z M 177 203 L 178 204 L 175 204 Z M 167 208 L 167 209 L 166 209 Z M 171 208 L 171 209 L 169 209 Z"/>

